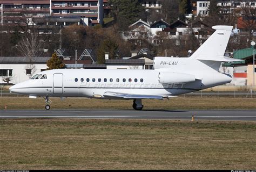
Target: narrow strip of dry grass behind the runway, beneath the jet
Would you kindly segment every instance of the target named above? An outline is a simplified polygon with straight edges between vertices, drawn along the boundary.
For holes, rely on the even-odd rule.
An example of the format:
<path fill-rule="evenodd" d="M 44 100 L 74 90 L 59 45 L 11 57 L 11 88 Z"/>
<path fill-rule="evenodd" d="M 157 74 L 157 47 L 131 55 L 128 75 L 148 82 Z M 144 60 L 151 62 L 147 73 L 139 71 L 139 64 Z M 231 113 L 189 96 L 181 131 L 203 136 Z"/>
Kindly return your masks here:
<path fill-rule="evenodd" d="M 132 101 L 87 98 L 51 98 L 52 109 L 132 109 Z M 175 97 L 170 100 L 143 100 L 144 109 L 255 109 L 255 98 Z M 0 109 L 44 109 L 44 99 L 0 98 Z"/>

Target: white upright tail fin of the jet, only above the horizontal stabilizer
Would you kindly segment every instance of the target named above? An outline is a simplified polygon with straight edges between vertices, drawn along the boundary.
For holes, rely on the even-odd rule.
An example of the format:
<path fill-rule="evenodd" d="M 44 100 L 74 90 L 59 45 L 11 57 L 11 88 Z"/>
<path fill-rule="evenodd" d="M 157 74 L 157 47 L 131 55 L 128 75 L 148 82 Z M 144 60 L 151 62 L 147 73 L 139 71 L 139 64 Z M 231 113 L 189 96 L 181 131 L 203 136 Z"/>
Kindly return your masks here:
<path fill-rule="evenodd" d="M 233 26 L 213 26 L 216 31 L 201 45 L 191 58 L 215 60 L 224 56 Z"/>

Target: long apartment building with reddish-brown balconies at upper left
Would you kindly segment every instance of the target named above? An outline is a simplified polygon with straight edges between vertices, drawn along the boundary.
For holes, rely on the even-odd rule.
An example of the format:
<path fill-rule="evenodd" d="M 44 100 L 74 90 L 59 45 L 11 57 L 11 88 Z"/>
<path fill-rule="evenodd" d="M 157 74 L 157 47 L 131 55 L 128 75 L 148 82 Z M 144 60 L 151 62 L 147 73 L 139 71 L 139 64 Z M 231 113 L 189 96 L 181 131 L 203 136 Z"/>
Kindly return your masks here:
<path fill-rule="evenodd" d="M 107 0 L 39 0 L 39 1 L 2 1 L 0 0 L 1 23 L 19 22 L 23 18 L 82 18 L 92 25 L 103 24 Z"/>

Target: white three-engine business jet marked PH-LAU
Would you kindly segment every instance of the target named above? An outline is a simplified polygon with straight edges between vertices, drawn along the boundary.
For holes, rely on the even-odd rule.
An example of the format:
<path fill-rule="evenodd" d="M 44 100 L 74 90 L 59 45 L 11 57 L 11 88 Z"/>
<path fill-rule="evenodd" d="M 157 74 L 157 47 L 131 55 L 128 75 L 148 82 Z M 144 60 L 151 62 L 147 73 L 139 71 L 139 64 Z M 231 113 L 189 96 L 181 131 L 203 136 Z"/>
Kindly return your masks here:
<path fill-rule="evenodd" d="M 232 26 L 213 26 L 216 31 L 190 58 L 154 58 L 154 70 L 55 69 L 36 74 L 9 90 L 30 98 L 50 96 L 99 99 L 133 99 L 142 110 L 142 99 L 164 99 L 231 82 L 220 73 L 221 62 L 240 61 L 224 56 Z"/>

